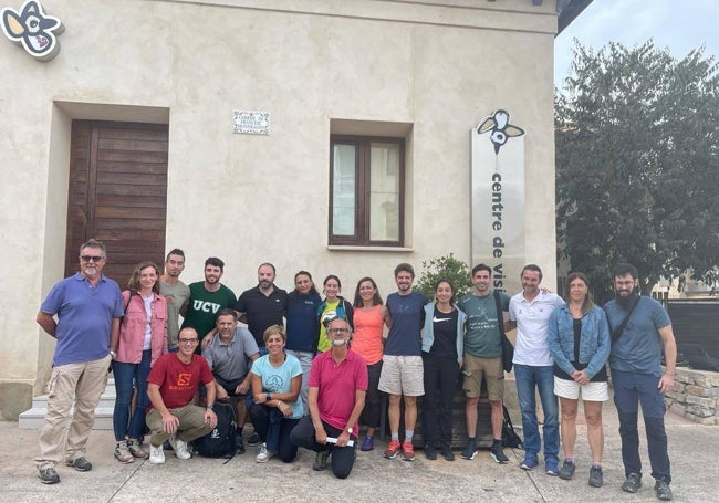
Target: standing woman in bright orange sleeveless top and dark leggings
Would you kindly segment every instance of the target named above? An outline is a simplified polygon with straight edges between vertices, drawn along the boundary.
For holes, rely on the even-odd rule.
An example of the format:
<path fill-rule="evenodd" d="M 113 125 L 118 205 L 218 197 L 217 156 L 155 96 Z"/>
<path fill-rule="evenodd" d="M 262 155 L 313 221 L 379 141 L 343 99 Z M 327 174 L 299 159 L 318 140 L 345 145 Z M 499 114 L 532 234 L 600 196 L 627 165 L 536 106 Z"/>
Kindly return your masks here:
<path fill-rule="evenodd" d="M 354 336 L 352 350 L 367 363 L 368 386 L 365 408 L 359 422 L 367 426 L 367 434 L 362 441 L 363 451 L 374 449 L 375 428 L 379 426 L 379 373 L 382 371 L 383 329 L 389 326 L 389 312 L 383 305 L 377 284 L 372 277 L 363 277 L 357 283 L 354 295 Z"/>

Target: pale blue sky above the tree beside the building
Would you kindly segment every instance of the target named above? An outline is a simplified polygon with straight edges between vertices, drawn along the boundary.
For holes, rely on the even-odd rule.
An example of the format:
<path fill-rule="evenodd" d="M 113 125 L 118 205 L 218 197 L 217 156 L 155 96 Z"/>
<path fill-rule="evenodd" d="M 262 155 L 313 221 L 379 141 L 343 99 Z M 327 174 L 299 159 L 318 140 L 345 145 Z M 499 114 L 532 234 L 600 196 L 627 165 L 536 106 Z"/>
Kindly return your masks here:
<path fill-rule="evenodd" d="M 554 85 L 570 73 L 574 39 L 594 52 L 608 42 L 632 48 L 649 39 L 681 59 L 705 45 L 719 59 L 719 0 L 594 0 L 554 39 Z"/>

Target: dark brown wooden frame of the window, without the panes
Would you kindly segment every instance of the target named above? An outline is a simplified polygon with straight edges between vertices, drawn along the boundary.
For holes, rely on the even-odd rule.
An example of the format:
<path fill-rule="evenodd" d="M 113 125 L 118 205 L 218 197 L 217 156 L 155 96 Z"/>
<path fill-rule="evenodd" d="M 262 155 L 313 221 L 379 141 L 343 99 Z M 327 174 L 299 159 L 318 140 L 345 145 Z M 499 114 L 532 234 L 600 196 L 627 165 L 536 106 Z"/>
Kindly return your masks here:
<path fill-rule="evenodd" d="M 371 148 L 373 143 L 389 143 L 399 149 L 398 174 L 398 240 L 371 240 Z M 333 234 L 334 219 L 334 147 L 335 145 L 352 145 L 355 156 L 355 214 L 354 235 Z M 405 145 L 404 137 L 398 136 L 330 136 L 330 211 L 327 226 L 327 242 L 340 247 L 403 247 L 405 242 Z"/>

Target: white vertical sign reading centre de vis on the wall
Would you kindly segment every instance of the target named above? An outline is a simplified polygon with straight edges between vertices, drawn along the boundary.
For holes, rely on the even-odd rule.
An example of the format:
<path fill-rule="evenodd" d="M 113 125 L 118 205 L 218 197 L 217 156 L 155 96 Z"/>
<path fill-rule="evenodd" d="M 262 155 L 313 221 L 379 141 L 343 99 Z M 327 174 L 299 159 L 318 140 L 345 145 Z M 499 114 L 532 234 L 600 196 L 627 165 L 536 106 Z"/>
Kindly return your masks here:
<path fill-rule="evenodd" d="M 502 109 L 471 135 L 472 266 L 492 268 L 492 287 L 521 291 L 524 251 L 524 130 Z"/>

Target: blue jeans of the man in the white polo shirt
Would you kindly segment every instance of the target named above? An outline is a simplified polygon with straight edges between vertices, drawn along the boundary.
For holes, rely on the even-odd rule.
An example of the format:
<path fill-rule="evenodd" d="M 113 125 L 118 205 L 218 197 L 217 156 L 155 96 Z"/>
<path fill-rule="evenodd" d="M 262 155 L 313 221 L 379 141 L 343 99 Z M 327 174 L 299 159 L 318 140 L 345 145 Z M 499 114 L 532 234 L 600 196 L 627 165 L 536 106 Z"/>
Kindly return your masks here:
<path fill-rule="evenodd" d="M 536 455 L 541 449 L 539 421 L 536 419 L 535 390 L 539 390 L 544 411 L 544 460 L 558 461 L 560 451 L 559 406 L 554 395 L 554 371 L 552 366 L 514 364 L 517 395 L 522 411 L 524 451 Z"/>

